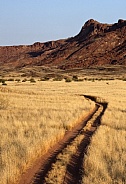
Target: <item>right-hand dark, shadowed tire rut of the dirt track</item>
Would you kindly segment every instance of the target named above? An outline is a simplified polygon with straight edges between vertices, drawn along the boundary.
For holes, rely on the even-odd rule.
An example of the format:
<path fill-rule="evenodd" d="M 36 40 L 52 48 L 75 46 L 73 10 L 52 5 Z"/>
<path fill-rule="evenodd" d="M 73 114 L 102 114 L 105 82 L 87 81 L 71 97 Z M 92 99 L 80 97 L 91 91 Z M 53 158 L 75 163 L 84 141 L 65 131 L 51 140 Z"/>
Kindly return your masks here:
<path fill-rule="evenodd" d="M 88 99 L 91 99 L 96 102 L 96 98 L 92 96 L 85 96 Z M 81 184 L 82 183 L 82 176 L 84 175 L 84 168 L 83 168 L 83 160 L 84 155 L 87 152 L 88 145 L 90 144 L 91 137 L 94 134 L 94 132 L 97 130 L 97 127 L 101 124 L 101 117 L 103 116 L 106 108 L 107 103 L 97 103 L 99 105 L 99 111 L 96 112 L 96 117 L 94 114 L 94 120 L 93 123 L 90 124 L 90 122 L 87 123 L 90 124 L 90 128 L 88 130 L 83 129 L 82 133 L 84 134 L 84 138 L 81 141 L 80 145 L 77 148 L 77 151 L 75 154 L 72 155 L 70 162 L 67 165 L 66 168 L 66 174 L 64 177 L 63 184 Z M 86 128 L 86 127 L 85 127 Z"/>

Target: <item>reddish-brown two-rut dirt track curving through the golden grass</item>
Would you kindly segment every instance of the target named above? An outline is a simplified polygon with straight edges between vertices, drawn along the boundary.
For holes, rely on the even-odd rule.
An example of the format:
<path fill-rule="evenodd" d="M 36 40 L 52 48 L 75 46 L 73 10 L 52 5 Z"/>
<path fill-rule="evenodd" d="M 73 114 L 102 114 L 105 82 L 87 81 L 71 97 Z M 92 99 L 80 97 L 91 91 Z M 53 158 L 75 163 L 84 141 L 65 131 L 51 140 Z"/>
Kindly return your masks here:
<path fill-rule="evenodd" d="M 49 183 L 50 172 L 57 165 L 57 156 L 66 154 L 65 149 L 69 150 L 69 145 L 76 147 L 75 152 L 70 156 L 69 162 L 66 164 L 66 171 L 62 173 L 60 183 L 63 184 L 79 184 L 84 173 L 82 167 L 84 154 L 90 144 L 91 136 L 100 125 L 101 117 L 107 108 L 107 103 L 98 103 L 96 97 L 84 95 L 85 98 L 95 102 L 95 108 L 92 109 L 85 119 L 75 126 L 71 131 L 68 131 L 64 138 L 60 140 L 48 153 L 38 159 L 33 166 L 21 177 L 19 184 L 43 184 Z M 76 139 L 80 140 L 79 144 Z M 52 167 L 53 164 L 53 167 Z M 54 183 L 59 184 L 55 175 Z M 53 181 L 51 182 L 53 183 Z"/>

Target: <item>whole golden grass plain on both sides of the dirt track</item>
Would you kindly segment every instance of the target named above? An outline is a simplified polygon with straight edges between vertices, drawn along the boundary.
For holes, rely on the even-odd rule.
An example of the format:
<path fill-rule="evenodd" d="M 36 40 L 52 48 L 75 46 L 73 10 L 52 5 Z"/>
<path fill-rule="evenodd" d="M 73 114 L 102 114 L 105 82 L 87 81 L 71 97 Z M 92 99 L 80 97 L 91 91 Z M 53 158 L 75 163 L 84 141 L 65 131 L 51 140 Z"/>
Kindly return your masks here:
<path fill-rule="evenodd" d="M 92 108 L 108 102 L 83 160 L 84 184 L 126 183 L 126 82 L 8 81 L 0 86 L 0 184 L 16 184 Z"/>

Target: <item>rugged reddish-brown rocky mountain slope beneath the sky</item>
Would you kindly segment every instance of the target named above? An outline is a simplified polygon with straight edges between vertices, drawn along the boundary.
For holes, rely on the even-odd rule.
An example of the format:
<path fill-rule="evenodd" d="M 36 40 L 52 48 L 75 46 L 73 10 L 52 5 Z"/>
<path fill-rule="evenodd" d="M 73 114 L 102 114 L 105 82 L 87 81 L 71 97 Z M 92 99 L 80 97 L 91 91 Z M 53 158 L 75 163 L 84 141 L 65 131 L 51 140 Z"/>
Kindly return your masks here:
<path fill-rule="evenodd" d="M 44 65 L 71 69 L 105 64 L 126 65 L 126 20 L 101 24 L 91 19 L 78 35 L 68 39 L 0 47 L 0 65 L 13 68 Z"/>

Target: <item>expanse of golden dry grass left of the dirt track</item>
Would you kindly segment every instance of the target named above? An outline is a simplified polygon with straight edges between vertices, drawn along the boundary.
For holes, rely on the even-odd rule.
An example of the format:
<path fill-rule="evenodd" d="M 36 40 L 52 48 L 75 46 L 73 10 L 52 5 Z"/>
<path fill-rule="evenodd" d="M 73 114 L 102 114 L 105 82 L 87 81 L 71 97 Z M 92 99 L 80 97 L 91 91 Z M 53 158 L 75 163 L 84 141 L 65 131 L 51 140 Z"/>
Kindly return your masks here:
<path fill-rule="evenodd" d="M 72 85 L 8 82 L 0 87 L 0 184 L 17 183 L 20 174 L 94 105 Z"/>

